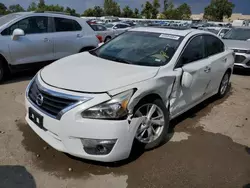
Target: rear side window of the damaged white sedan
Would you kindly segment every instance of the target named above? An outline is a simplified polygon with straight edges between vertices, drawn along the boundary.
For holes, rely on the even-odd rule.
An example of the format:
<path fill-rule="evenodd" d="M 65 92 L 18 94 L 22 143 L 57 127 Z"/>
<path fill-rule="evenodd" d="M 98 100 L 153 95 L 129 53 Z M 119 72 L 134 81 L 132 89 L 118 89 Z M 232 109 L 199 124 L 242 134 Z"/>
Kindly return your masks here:
<path fill-rule="evenodd" d="M 224 52 L 224 44 L 220 39 L 212 35 L 206 35 L 205 49 L 206 49 L 206 56 L 212 56 Z"/>

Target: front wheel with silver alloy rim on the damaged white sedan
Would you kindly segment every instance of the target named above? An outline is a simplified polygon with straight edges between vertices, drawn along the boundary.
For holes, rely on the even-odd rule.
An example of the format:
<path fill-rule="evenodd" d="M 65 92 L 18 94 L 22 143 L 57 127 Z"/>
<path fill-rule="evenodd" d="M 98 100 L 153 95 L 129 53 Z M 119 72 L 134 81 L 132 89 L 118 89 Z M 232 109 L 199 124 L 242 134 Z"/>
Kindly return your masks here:
<path fill-rule="evenodd" d="M 135 109 L 134 117 L 144 118 L 136 131 L 135 139 L 143 144 L 146 150 L 156 148 L 166 140 L 169 113 L 162 100 L 140 103 Z"/>

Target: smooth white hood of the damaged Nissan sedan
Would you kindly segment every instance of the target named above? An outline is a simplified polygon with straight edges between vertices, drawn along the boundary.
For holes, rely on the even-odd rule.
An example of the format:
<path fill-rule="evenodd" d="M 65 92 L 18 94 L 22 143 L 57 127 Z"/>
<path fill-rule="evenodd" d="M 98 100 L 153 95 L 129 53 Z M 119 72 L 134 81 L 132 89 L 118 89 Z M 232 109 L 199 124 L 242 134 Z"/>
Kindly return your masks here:
<path fill-rule="evenodd" d="M 146 67 L 105 60 L 88 52 L 60 59 L 40 75 L 48 85 L 80 92 L 107 92 L 154 77 L 159 67 Z"/>

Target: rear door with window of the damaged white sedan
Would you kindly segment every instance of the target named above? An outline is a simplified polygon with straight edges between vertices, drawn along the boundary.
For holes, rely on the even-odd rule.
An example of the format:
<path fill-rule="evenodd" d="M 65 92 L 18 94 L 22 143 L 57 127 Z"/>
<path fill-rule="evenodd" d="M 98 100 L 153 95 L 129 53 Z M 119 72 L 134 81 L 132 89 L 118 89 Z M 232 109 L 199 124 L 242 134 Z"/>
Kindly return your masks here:
<path fill-rule="evenodd" d="M 211 84 L 207 92 L 214 93 L 218 91 L 221 79 L 226 72 L 228 52 L 225 51 L 224 43 L 213 35 L 205 35 L 205 49 L 208 61 L 211 63 Z"/>

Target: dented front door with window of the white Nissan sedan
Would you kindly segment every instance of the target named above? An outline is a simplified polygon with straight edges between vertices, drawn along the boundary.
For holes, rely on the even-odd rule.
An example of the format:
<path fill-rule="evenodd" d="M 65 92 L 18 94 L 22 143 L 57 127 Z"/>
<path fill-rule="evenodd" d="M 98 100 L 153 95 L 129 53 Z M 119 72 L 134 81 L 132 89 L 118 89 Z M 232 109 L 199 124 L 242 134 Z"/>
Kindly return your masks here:
<path fill-rule="evenodd" d="M 170 100 L 172 117 L 190 109 L 206 97 L 206 91 L 211 83 L 211 63 L 205 56 L 203 36 L 191 39 L 178 64 L 181 64 L 179 71 L 192 75 L 192 84 L 190 88 L 183 87 L 181 85 L 182 74 L 177 75 Z"/>

